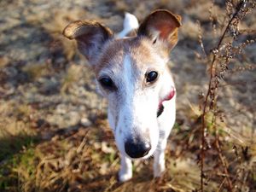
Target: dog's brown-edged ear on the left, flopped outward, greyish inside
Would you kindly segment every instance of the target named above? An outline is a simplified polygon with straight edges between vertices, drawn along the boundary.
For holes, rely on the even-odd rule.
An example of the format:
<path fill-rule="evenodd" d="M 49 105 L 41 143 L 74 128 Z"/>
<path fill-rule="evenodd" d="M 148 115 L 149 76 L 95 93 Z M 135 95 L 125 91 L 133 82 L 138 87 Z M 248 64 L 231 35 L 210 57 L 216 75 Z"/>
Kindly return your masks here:
<path fill-rule="evenodd" d="M 88 20 L 73 21 L 65 27 L 63 35 L 69 39 L 76 39 L 79 51 L 91 65 L 95 65 L 102 46 L 113 38 L 113 32 L 108 27 Z"/>

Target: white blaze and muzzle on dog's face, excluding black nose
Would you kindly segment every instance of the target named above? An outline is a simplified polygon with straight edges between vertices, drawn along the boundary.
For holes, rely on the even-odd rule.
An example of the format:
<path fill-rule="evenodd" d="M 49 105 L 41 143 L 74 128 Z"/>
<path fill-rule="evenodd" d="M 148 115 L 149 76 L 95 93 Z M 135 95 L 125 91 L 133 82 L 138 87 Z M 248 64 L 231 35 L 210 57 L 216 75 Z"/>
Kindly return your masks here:
<path fill-rule="evenodd" d="M 124 82 L 122 84 L 123 90 L 120 91 L 124 101 L 119 112 L 114 112 L 119 113 L 119 119 L 115 127 L 115 138 L 121 154 L 126 155 L 124 149 L 125 138 L 132 137 L 135 134 L 146 137 L 148 132 L 152 149 L 143 157 L 146 159 L 154 153 L 157 147 L 159 131 L 156 111 L 158 105 L 148 105 L 148 103 L 158 103 L 158 93 L 153 90 L 141 90 L 139 87 L 141 82 L 135 82 L 135 79 L 132 79 L 132 71 L 130 56 L 125 55 L 124 69 L 120 76 Z"/>

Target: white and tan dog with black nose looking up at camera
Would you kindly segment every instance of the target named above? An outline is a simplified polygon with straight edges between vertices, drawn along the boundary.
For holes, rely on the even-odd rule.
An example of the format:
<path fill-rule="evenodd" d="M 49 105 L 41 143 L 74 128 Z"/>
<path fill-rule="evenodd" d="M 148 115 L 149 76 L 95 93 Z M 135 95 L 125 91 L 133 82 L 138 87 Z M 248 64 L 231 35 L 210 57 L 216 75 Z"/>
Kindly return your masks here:
<path fill-rule="evenodd" d="M 76 40 L 108 100 L 108 122 L 121 158 L 120 182 L 131 179 L 131 160 L 150 156 L 154 177 L 160 177 L 176 116 L 175 84 L 166 64 L 177 44 L 181 17 L 158 9 L 140 26 L 134 17 L 126 15 L 124 27 L 130 29 L 119 36 L 95 20 L 76 20 L 63 30 L 65 37 Z M 134 28 L 136 36 L 125 37 Z"/>

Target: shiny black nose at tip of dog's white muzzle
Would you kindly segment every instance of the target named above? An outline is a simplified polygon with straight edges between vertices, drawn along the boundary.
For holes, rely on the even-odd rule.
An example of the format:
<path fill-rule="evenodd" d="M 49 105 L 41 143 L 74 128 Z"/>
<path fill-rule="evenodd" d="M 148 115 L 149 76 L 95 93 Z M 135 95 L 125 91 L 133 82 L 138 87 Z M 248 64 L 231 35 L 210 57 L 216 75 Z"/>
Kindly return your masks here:
<path fill-rule="evenodd" d="M 129 139 L 125 142 L 125 152 L 131 158 L 140 158 L 148 154 L 151 145 L 148 142 L 134 141 Z"/>

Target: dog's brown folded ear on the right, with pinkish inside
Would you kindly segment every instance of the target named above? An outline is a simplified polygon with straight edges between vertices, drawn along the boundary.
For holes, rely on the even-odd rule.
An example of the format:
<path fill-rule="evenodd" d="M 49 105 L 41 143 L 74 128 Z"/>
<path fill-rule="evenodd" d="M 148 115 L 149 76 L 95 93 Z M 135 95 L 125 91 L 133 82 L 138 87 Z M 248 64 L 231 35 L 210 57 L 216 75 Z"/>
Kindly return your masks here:
<path fill-rule="evenodd" d="M 170 51 L 177 44 L 177 28 L 179 26 L 181 26 L 181 16 L 174 15 L 165 9 L 159 9 L 143 20 L 137 34 L 151 38 L 153 44 L 161 40 Z"/>

